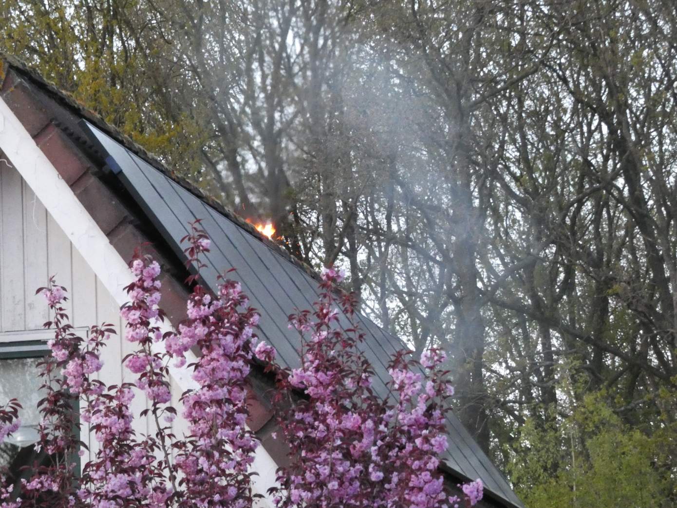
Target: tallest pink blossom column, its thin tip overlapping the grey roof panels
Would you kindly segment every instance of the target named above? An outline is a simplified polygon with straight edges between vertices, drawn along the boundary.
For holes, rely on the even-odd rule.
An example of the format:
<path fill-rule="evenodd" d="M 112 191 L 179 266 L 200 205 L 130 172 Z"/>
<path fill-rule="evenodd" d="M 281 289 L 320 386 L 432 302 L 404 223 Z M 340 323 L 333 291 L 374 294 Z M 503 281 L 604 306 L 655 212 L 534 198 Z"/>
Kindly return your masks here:
<path fill-rule="evenodd" d="M 209 249 L 209 242 L 199 229 L 187 239 L 186 253 L 200 266 L 198 257 Z M 238 282 L 223 280 L 216 298 L 196 284 L 188 319 L 179 325 L 177 335 L 165 339 L 167 352 L 179 365 L 192 347 L 200 351 L 192 375 L 199 388 L 181 399 L 192 435 L 177 448 L 176 459 L 185 494 L 196 507 L 244 508 L 253 501 L 249 467 L 258 443 L 246 427 L 245 378 L 259 315 L 247 304 Z"/>

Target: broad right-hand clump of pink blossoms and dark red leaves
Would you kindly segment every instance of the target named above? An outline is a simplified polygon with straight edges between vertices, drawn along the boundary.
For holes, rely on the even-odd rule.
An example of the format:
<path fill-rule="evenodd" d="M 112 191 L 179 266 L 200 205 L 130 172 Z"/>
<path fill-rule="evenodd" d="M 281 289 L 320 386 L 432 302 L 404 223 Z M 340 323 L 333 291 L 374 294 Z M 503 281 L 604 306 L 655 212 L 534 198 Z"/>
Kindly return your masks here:
<path fill-rule="evenodd" d="M 350 320 L 354 299 L 336 283 L 343 273 L 322 272 L 322 295 L 313 312 L 290 316 L 303 343 L 299 368 L 275 365 L 281 386 L 278 400 L 290 391 L 306 398 L 278 418 L 290 444 L 290 465 L 278 470 L 278 508 L 397 507 L 443 508 L 458 499 L 445 490 L 438 470 L 447 450 L 445 414 L 450 391 L 440 350 L 424 353 L 421 371 L 399 352 L 391 361 L 391 400 L 372 391 L 374 373 L 359 351 L 364 334 L 352 322 L 341 328 L 339 310 Z M 272 361 L 269 347 L 259 344 L 260 360 Z M 294 399 L 294 397 L 291 397 Z M 466 492 L 466 502 L 481 499 L 481 482 Z"/>

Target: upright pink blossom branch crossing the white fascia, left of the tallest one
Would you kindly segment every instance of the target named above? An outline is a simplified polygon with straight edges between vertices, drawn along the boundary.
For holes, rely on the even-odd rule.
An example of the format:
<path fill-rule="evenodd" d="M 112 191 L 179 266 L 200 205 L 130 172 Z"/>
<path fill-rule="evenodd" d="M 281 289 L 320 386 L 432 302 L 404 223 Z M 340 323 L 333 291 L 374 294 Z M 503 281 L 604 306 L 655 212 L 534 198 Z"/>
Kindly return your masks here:
<path fill-rule="evenodd" d="M 164 314 L 160 310 L 160 266 L 150 256 L 135 254 L 130 263 L 135 280 L 127 286 L 129 303 L 123 305 L 121 317 L 127 321 L 127 340 L 137 350 L 125 358 L 125 365 L 137 375 L 135 384 L 123 383 L 100 387 L 83 411 L 83 421 L 94 429 L 100 443 L 87 482 L 78 494 L 87 507 L 118 508 L 143 505 L 152 508 L 169 506 L 178 495 L 175 486 L 175 465 L 171 463 L 173 441 L 169 427 L 160 424 L 162 415 L 173 415 L 166 406 L 171 399 L 167 367 L 162 358 L 153 354 L 152 343 L 162 339 L 159 324 Z M 156 421 L 154 436 L 136 436 L 131 412 L 133 388 L 144 390 L 150 408 L 141 413 Z"/>

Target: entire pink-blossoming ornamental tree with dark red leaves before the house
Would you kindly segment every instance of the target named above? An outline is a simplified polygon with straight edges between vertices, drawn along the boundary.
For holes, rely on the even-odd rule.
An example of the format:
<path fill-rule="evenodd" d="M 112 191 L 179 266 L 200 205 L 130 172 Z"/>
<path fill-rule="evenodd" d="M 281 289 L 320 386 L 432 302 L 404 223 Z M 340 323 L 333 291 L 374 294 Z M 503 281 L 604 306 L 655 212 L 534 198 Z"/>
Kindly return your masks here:
<path fill-rule="evenodd" d="M 475 505 L 480 480 L 461 486 L 460 499 L 447 492 L 438 469 L 453 394 L 441 370 L 443 352 L 431 349 L 420 363 L 397 352 L 387 381 L 391 396 L 380 398 L 359 350 L 364 334 L 355 324 L 354 296 L 339 290 L 343 273 L 329 268 L 313 310 L 290 316 L 301 337 L 301 366 L 280 367 L 274 348 L 257 341 L 259 314 L 240 284 L 221 278 L 215 295 L 200 284 L 210 242 L 199 223 L 183 239 L 187 264 L 198 274 L 187 280 L 193 291 L 176 331 L 160 328 L 158 263 L 138 252 L 130 263 L 135 280 L 121 316 L 126 339 L 137 346 L 123 359 L 136 375 L 133 384 L 106 386 L 97 379 L 112 324 L 79 337 L 68 322 L 66 289 L 52 278 L 38 290 L 53 316 L 45 326 L 55 331 L 51 355 L 41 362 L 45 398 L 36 448 L 44 457 L 16 486 L 0 471 L 0 508 L 252 507 L 260 497 L 252 491 L 251 470 L 259 443 L 246 425 L 246 377 L 256 360 L 276 380 L 278 439 L 290 448 L 288 465 L 278 469 L 279 487 L 269 492 L 278 508 Z M 185 366 L 189 350 L 200 352 L 186 367 L 197 388 L 180 398 L 190 436 L 175 436 L 169 364 Z M 134 388 L 149 401 L 139 415 L 131 412 Z M 96 442 L 82 471 L 77 456 L 86 446 L 74 431 L 80 425 L 75 400 Z M 17 400 L 0 406 L 0 442 L 18 429 L 20 408 Z M 135 417 L 150 417 L 156 432 L 137 435 Z"/>

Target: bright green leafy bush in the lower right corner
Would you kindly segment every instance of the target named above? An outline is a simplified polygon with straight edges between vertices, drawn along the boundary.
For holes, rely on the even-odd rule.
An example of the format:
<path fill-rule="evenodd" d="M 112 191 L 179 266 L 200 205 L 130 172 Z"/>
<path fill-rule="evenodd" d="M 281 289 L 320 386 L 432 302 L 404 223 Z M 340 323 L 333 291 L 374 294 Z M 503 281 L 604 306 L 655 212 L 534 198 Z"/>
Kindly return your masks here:
<path fill-rule="evenodd" d="M 676 438 L 674 426 L 653 435 L 632 429 L 603 392 L 588 394 L 556 425 L 527 421 L 510 472 L 529 508 L 668 507 Z"/>

